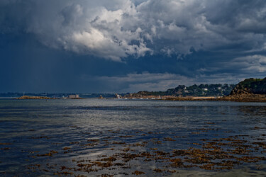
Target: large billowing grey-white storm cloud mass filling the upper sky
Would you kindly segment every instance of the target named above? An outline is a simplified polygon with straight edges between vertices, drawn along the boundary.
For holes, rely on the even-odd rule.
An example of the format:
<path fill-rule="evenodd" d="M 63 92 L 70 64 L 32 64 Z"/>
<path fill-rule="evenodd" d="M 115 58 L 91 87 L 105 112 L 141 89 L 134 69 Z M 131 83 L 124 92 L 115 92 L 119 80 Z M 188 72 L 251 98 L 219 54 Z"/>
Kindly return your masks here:
<path fill-rule="evenodd" d="M 266 49 L 263 0 L 2 0 L 0 8 L 0 33 L 113 61 Z"/>

